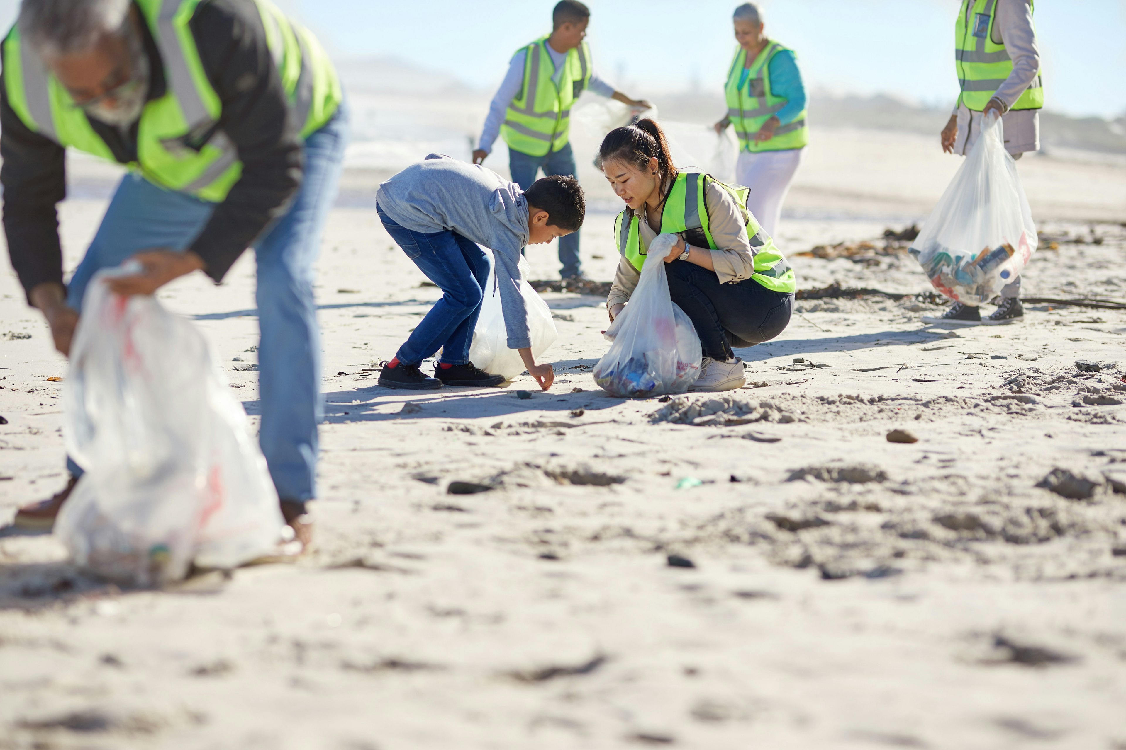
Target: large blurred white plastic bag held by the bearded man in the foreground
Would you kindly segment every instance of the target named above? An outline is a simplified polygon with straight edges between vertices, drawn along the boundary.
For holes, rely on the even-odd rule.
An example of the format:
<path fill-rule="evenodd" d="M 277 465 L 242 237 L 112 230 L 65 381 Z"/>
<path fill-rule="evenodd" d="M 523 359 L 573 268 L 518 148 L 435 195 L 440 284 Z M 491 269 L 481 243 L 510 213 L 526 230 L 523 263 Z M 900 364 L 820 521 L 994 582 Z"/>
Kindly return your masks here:
<path fill-rule="evenodd" d="M 153 297 L 90 282 L 63 383 L 66 450 L 84 473 L 55 534 L 129 586 L 271 553 L 284 521 L 247 414 L 204 337 Z"/>

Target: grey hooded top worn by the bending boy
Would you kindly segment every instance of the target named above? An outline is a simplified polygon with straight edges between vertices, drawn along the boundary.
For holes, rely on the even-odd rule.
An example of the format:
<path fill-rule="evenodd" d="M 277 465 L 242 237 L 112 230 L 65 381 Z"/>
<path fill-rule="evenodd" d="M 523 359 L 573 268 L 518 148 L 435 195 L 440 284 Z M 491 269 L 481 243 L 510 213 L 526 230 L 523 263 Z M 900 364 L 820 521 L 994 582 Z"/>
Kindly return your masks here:
<path fill-rule="evenodd" d="M 492 250 L 508 347 L 531 346 L 517 265 L 528 244 L 528 201 L 518 184 L 484 166 L 430 154 L 382 183 L 375 202 L 408 229 L 449 229 Z"/>

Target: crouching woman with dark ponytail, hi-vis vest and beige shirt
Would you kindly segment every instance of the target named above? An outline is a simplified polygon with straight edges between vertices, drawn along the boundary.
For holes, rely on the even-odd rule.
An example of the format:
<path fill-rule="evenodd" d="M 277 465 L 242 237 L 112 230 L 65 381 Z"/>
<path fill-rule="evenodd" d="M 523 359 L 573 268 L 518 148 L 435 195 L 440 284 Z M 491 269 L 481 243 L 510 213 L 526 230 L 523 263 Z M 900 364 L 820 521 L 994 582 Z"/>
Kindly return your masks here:
<path fill-rule="evenodd" d="M 606 307 L 613 322 L 637 287 L 650 243 L 679 240 L 665 256 L 672 301 L 691 319 L 704 359 L 694 390 L 744 383 L 732 347 L 770 341 L 789 324 L 794 270 L 747 208 L 748 190 L 672 166 L 651 119 L 611 130 L 598 163 L 626 208 L 614 224 L 622 260 Z"/>

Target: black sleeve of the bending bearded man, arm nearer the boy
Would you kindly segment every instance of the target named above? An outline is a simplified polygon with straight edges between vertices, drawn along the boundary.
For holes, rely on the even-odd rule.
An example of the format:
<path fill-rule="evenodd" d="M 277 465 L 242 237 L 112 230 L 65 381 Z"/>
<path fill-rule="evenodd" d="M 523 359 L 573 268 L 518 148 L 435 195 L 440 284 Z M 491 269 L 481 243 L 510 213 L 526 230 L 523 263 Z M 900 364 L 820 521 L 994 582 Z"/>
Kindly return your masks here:
<path fill-rule="evenodd" d="M 301 187 L 303 153 L 253 0 L 205 0 L 190 22 L 204 71 L 223 102 L 220 127 L 239 148 L 242 177 L 190 250 L 222 280 Z"/>

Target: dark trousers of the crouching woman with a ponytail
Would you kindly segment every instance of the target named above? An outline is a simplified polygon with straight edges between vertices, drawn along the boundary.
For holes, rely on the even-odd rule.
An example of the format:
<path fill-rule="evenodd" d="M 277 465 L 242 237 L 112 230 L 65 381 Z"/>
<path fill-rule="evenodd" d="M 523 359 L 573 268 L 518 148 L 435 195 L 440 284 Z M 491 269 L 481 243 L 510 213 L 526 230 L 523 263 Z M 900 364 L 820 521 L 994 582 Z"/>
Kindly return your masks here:
<path fill-rule="evenodd" d="M 753 279 L 720 283 L 715 271 L 672 261 L 664 266 L 672 301 L 691 318 L 704 356 L 727 360 L 732 346 L 770 341 L 789 325 L 794 295 L 767 289 Z"/>

